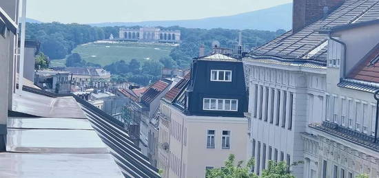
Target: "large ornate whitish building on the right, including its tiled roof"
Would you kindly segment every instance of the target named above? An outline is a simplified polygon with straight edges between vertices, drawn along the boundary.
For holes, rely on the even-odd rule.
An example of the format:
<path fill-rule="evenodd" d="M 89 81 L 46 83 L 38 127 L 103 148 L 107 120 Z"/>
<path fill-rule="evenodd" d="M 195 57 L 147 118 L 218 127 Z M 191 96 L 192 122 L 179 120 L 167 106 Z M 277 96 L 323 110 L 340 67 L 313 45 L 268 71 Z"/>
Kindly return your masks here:
<path fill-rule="evenodd" d="M 299 2 L 294 1 L 294 11 Z M 376 60 L 365 62 L 370 55 L 379 57 L 379 14 L 371 11 L 379 6 L 378 1 L 359 3 L 367 8 L 341 1 L 328 16 L 245 58 L 248 150 L 258 175 L 274 160 L 303 162 L 291 166 L 296 177 L 379 177 L 379 143 L 373 142 L 379 73 Z"/>

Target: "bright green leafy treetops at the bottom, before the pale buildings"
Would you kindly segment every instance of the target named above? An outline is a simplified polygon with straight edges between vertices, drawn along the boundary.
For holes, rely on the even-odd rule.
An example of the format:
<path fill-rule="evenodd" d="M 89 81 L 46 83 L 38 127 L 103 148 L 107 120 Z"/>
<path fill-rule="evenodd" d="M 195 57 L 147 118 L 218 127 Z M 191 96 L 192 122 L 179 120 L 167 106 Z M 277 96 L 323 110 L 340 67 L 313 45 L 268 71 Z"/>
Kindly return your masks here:
<path fill-rule="evenodd" d="M 243 161 L 234 165 L 234 155 L 229 155 L 225 162 L 225 168 L 214 168 L 207 170 L 207 178 L 258 178 L 254 173 L 249 173 L 249 170 L 254 166 L 254 159 L 250 159 L 246 166 L 243 166 Z M 301 162 L 295 162 L 291 166 L 296 166 Z M 263 170 L 261 178 L 295 178 L 289 171 L 290 166 L 287 166 L 285 162 L 273 162 L 269 161 L 267 169 Z"/>

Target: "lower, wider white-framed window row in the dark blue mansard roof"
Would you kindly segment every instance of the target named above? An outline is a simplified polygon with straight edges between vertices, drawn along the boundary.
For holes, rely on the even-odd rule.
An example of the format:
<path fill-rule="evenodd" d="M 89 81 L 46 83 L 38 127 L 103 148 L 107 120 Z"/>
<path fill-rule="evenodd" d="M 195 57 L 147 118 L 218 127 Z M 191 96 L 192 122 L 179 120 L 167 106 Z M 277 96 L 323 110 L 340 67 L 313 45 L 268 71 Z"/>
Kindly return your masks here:
<path fill-rule="evenodd" d="M 203 99 L 203 110 L 238 111 L 238 100 L 234 99 Z"/>

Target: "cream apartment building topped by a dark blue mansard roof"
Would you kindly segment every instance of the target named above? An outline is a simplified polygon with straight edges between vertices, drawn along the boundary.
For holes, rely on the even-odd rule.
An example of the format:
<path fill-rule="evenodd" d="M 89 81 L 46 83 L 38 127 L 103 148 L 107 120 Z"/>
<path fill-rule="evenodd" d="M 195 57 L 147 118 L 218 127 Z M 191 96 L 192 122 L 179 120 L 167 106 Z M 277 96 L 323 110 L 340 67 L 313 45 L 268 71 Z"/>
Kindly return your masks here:
<path fill-rule="evenodd" d="M 163 177 L 205 177 L 229 154 L 245 160 L 247 95 L 243 63 L 222 54 L 195 58 L 161 100 L 158 168 Z"/>

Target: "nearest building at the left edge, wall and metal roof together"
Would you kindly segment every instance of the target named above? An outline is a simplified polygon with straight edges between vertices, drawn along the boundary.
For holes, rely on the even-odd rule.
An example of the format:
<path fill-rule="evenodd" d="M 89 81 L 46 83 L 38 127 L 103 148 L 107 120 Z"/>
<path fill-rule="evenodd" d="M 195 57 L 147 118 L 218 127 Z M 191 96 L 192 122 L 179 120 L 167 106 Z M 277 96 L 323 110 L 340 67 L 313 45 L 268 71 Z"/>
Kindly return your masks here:
<path fill-rule="evenodd" d="M 70 93 L 26 82 L 18 14 L 19 1 L 0 1 L 0 177 L 159 178 L 121 122 Z"/>

